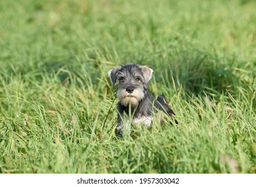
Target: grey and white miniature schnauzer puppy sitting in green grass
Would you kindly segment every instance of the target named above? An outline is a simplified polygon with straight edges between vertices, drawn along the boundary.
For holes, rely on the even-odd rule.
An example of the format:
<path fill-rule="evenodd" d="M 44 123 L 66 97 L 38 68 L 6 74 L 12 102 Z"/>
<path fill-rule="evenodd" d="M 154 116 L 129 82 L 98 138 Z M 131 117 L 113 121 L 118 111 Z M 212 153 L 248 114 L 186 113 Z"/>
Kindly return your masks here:
<path fill-rule="evenodd" d="M 152 115 L 157 110 L 170 117 L 174 116 L 163 95 L 154 100 L 148 93 L 148 81 L 152 78 L 153 72 L 146 65 L 137 64 L 126 64 L 108 71 L 112 85 L 118 81 L 117 135 L 122 136 L 124 128 L 129 130 L 131 116 L 132 124 L 144 124 L 146 128 L 150 127 Z"/>

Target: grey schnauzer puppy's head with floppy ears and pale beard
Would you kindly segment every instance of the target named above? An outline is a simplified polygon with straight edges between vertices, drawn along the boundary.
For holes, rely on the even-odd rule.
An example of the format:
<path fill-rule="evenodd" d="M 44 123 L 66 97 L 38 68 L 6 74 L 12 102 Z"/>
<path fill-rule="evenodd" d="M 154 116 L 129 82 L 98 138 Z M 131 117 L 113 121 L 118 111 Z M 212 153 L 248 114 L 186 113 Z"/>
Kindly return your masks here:
<path fill-rule="evenodd" d="M 126 64 L 108 71 L 112 85 L 118 81 L 116 95 L 122 106 L 138 106 L 145 96 L 148 81 L 154 71 L 146 65 Z"/>

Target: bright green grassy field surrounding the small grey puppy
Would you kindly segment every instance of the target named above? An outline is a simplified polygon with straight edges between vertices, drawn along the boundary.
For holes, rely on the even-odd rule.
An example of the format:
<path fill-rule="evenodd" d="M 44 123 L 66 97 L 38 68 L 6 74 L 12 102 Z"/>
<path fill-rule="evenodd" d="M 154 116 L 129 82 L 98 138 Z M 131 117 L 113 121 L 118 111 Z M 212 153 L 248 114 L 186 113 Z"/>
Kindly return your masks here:
<path fill-rule="evenodd" d="M 0 2 L 0 173 L 256 173 L 256 2 Z M 108 70 L 154 69 L 178 126 L 117 138 Z"/>

